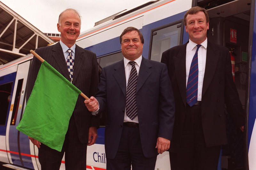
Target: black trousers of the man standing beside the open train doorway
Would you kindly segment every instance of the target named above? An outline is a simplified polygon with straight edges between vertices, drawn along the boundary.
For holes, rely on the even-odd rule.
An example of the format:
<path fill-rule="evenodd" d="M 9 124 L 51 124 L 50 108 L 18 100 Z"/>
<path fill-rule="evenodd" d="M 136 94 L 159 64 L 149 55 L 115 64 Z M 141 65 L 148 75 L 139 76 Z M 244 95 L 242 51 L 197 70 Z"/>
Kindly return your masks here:
<path fill-rule="evenodd" d="M 201 106 L 187 104 L 180 150 L 170 152 L 172 170 L 216 170 L 220 146 L 206 147 L 202 128 Z"/>

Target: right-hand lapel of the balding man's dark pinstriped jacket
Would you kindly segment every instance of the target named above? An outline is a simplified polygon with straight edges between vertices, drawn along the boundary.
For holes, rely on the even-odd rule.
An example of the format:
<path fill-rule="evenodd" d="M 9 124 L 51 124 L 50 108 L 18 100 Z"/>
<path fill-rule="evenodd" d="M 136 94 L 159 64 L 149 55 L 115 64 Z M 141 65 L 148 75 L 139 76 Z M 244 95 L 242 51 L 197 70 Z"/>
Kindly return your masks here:
<path fill-rule="evenodd" d="M 75 50 L 75 62 L 74 62 L 74 73 L 73 73 L 73 84 L 75 84 L 76 79 L 78 77 L 79 72 L 81 71 L 81 67 L 84 63 L 84 59 L 86 56 L 84 56 L 84 51 L 77 47 Z M 86 65 L 83 65 L 83 67 L 86 67 Z"/>

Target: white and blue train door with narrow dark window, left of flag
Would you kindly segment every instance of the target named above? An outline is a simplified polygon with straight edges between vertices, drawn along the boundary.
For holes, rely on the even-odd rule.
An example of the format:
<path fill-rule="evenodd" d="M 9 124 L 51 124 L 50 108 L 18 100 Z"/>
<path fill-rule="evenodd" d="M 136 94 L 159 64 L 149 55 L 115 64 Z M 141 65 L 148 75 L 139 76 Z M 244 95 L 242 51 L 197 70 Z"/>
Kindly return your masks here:
<path fill-rule="evenodd" d="M 16 78 L 11 97 L 11 108 L 6 127 L 6 150 L 11 164 L 33 168 L 29 139 L 26 135 L 16 129 L 25 109 L 25 88 L 28 77 L 30 61 L 21 63 L 17 66 Z"/>

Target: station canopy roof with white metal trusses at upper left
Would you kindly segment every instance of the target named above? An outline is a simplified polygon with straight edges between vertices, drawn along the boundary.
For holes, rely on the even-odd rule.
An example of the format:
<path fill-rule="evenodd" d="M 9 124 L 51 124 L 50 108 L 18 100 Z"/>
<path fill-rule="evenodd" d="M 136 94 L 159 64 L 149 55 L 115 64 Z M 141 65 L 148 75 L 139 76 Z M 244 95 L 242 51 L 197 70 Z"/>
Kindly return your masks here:
<path fill-rule="evenodd" d="M 16 12 L 0 1 L 0 65 L 54 43 Z"/>

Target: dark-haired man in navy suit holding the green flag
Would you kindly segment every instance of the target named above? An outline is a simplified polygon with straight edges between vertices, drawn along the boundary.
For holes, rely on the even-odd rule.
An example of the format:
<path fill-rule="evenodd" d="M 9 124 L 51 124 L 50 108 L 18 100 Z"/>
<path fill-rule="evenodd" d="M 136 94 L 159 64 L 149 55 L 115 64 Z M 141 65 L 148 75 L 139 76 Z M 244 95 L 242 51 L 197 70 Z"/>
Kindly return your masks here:
<path fill-rule="evenodd" d="M 120 43 L 124 60 L 102 69 L 98 101 L 84 102 L 89 111 L 107 107 L 108 170 L 154 170 L 157 153 L 168 150 L 172 138 L 171 82 L 165 64 L 142 57 L 144 39 L 137 28 L 124 29 Z"/>

